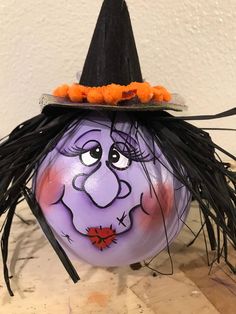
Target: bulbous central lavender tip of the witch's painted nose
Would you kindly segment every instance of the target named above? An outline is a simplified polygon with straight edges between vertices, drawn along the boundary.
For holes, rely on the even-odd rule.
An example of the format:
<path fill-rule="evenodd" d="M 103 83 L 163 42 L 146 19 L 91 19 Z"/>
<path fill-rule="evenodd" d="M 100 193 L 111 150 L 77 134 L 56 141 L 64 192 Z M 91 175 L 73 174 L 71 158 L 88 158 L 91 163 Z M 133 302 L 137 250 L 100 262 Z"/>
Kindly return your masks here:
<path fill-rule="evenodd" d="M 118 197 L 121 184 L 117 175 L 107 165 L 101 165 L 86 179 L 84 189 L 97 207 L 105 208 Z"/>

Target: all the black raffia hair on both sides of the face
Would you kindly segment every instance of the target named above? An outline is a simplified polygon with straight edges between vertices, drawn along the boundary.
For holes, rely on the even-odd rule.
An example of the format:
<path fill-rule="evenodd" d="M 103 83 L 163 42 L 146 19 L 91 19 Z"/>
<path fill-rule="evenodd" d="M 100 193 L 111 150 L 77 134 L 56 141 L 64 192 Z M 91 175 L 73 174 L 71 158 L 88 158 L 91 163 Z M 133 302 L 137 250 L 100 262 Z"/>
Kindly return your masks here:
<path fill-rule="evenodd" d="M 72 280 L 79 280 L 76 270 L 47 224 L 29 183 L 37 171 L 39 161 L 54 149 L 71 124 L 83 119 L 87 113 L 72 109 L 44 111 L 20 124 L 0 142 L 0 216 L 5 214 L 0 228 L 1 252 L 4 279 L 11 296 L 13 292 L 7 267 L 8 241 L 16 206 L 23 200 L 28 203 Z M 160 111 L 127 114 L 132 121 L 147 128 L 170 163 L 174 176 L 197 200 L 211 249 L 217 253 L 217 261 L 223 255 L 230 269 L 235 272 L 235 267 L 228 261 L 228 245 L 230 243 L 236 248 L 236 174 L 219 159 L 217 150 L 233 160 L 236 157 L 213 143 L 207 132 L 185 120 L 235 115 L 236 108 L 219 115 L 202 117 L 174 117 Z"/>

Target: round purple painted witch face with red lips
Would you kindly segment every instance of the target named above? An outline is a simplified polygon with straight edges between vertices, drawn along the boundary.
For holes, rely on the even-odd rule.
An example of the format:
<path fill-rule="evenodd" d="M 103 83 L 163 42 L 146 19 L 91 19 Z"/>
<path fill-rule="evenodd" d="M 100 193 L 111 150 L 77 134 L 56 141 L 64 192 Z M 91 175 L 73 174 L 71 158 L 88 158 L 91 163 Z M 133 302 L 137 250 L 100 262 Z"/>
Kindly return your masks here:
<path fill-rule="evenodd" d="M 181 230 L 190 195 L 128 116 L 74 122 L 39 166 L 35 193 L 58 241 L 100 266 L 141 261 Z"/>

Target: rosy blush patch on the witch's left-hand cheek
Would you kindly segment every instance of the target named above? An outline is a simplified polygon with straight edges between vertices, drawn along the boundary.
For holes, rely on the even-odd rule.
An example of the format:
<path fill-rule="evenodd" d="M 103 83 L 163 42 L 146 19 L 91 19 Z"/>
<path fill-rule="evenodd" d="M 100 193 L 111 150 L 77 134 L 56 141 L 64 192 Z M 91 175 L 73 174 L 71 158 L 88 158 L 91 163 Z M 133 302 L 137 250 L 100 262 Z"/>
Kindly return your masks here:
<path fill-rule="evenodd" d="M 57 202 L 63 193 L 62 175 L 56 169 L 47 167 L 36 182 L 36 199 L 43 211 Z"/>

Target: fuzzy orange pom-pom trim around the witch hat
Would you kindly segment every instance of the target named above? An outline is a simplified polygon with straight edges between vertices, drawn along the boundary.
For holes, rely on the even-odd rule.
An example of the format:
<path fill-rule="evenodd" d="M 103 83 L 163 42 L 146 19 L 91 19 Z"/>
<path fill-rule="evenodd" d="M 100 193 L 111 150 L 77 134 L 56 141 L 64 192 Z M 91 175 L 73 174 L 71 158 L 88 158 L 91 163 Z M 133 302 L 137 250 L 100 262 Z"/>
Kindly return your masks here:
<path fill-rule="evenodd" d="M 101 87 L 88 87 L 80 84 L 68 86 L 66 84 L 57 87 L 53 91 L 54 96 L 67 97 L 72 102 L 85 102 L 91 104 L 119 105 L 125 100 L 137 99 L 137 102 L 146 104 L 149 102 L 168 102 L 171 94 L 163 86 L 152 87 L 149 83 L 132 82 L 127 86 L 110 84 Z"/>

